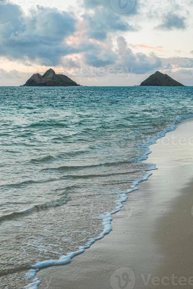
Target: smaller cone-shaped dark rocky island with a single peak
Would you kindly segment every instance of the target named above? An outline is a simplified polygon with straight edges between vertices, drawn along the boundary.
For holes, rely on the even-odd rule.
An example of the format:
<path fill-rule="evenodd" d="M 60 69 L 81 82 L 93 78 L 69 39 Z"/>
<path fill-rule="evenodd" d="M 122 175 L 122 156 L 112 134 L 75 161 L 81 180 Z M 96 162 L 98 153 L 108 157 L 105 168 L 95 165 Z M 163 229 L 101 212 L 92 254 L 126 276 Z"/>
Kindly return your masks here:
<path fill-rule="evenodd" d="M 167 74 L 163 74 L 159 71 L 150 75 L 146 80 L 144 80 L 140 86 L 184 86 L 178 81 L 174 80 Z"/>

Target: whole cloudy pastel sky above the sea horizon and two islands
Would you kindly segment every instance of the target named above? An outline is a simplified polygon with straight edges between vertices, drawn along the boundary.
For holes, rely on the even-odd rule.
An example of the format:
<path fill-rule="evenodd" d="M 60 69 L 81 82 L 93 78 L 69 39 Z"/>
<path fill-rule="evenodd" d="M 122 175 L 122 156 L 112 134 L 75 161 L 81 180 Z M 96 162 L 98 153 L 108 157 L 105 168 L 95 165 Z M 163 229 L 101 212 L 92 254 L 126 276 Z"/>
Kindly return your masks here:
<path fill-rule="evenodd" d="M 0 86 L 49 68 L 86 86 L 157 70 L 193 86 L 193 0 L 0 0 Z"/>

